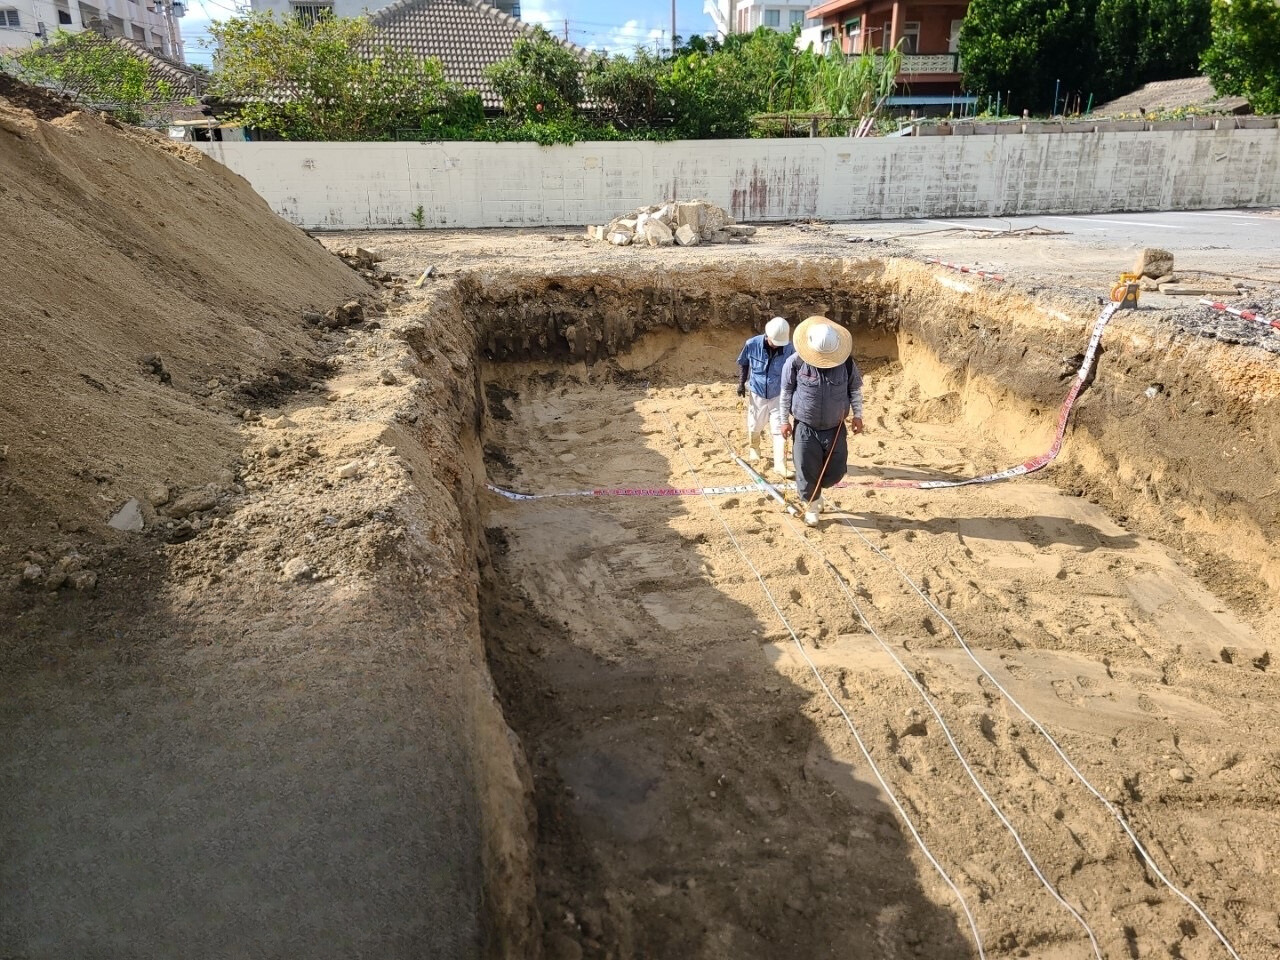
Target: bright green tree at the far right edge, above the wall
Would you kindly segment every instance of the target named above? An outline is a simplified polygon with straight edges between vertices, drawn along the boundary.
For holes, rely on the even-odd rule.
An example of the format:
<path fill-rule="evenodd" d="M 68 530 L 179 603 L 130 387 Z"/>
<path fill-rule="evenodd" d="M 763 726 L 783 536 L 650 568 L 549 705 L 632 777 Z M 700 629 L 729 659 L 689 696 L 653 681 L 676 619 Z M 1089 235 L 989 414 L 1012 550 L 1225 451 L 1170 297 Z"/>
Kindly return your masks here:
<path fill-rule="evenodd" d="M 1213 0 L 1203 67 L 1219 93 L 1244 97 L 1258 113 L 1280 113 L 1280 5 Z"/>

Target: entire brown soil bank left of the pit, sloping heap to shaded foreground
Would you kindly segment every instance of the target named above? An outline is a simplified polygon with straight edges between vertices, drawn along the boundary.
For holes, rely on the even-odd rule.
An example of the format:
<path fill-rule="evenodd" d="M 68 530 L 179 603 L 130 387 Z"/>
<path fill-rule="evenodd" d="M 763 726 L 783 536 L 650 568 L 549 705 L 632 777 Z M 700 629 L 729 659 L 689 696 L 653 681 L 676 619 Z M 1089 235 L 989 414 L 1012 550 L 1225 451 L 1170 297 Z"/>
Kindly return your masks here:
<path fill-rule="evenodd" d="M 0 956 L 527 955 L 466 325 L 83 114 L 0 221 Z"/>

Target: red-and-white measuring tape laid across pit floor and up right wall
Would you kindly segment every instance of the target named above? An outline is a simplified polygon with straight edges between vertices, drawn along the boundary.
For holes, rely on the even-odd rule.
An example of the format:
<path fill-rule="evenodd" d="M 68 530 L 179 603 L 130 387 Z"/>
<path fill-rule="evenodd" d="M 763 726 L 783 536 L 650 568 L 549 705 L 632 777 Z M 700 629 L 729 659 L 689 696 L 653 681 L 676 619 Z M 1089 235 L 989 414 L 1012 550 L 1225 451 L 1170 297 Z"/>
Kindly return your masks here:
<path fill-rule="evenodd" d="M 1057 428 L 1053 431 L 1053 443 L 1043 453 L 1032 457 L 1023 463 L 1009 467 L 1007 470 L 986 474 L 983 476 L 965 477 L 963 480 L 845 480 L 844 483 L 836 484 L 835 489 L 869 486 L 874 489 L 893 490 L 945 490 L 952 486 L 970 486 L 973 484 L 993 484 L 1000 480 L 1012 480 L 1014 477 L 1025 476 L 1027 474 L 1034 474 L 1037 470 L 1043 470 L 1046 466 L 1057 460 L 1057 454 L 1062 449 L 1062 440 L 1066 436 L 1066 425 L 1071 417 L 1071 410 L 1080 398 L 1080 393 L 1084 390 L 1084 384 L 1088 381 L 1089 374 L 1093 371 L 1093 366 L 1097 362 L 1098 348 L 1102 344 L 1102 332 L 1106 329 L 1111 317 L 1115 316 L 1120 306 L 1120 303 L 1107 303 L 1102 308 L 1102 312 L 1098 314 L 1098 319 L 1093 321 L 1093 330 L 1089 334 L 1089 346 L 1084 349 L 1084 361 L 1080 364 L 1080 369 L 1071 383 L 1071 389 L 1068 392 L 1066 399 L 1062 401 L 1062 406 L 1057 411 Z M 728 486 L 608 486 L 594 490 L 566 490 L 562 493 L 515 493 L 513 490 L 506 490 L 500 486 L 495 486 L 494 484 L 485 484 L 485 486 L 490 492 L 498 494 L 499 497 L 504 497 L 508 500 L 547 500 L 563 497 L 716 497 L 735 493 L 759 493 L 760 490 L 758 484 L 733 484 Z M 782 490 L 794 490 L 796 485 L 774 484 L 774 486 Z"/>

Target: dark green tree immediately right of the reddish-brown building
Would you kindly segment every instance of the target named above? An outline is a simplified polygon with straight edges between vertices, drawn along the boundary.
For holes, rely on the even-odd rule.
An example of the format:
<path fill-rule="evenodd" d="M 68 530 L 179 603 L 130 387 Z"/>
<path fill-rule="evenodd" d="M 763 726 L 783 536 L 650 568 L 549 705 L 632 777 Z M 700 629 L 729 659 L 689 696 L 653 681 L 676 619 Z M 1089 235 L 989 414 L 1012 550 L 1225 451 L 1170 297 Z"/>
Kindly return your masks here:
<path fill-rule="evenodd" d="M 966 86 L 1032 110 L 1050 109 L 1055 90 L 1092 92 L 1096 14 L 1097 0 L 973 0 L 960 31 Z"/>

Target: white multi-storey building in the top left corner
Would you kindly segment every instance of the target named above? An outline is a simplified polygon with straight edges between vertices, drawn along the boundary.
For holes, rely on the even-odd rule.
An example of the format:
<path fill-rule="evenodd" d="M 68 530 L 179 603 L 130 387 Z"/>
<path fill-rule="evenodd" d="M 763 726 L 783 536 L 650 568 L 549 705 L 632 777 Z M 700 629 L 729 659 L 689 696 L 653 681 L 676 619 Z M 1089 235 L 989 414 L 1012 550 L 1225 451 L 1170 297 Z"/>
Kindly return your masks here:
<path fill-rule="evenodd" d="M 23 50 L 59 31 L 123 37 L 182 61 L 182 0 L 0 0 L 0 52 Z"/>

